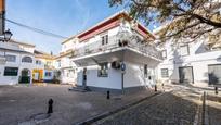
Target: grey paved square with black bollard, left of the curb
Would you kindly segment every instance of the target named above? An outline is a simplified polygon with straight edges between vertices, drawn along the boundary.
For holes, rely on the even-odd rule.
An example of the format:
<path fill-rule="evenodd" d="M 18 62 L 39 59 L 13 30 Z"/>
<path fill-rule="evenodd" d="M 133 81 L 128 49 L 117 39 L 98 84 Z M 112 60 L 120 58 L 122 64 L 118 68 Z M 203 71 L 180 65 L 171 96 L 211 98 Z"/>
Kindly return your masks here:
<path fill-rule="evenodd" d="M 68 85 L 0 86 L 0 125 L 17 125 L 30 116 L 47 113 L 48 100 L 54 100 L 54 113 L 42 124 L 68 125 L 112 111 L 151 96 L 150 90 L 106 99 L 101 92 L 68 91 Z"/>

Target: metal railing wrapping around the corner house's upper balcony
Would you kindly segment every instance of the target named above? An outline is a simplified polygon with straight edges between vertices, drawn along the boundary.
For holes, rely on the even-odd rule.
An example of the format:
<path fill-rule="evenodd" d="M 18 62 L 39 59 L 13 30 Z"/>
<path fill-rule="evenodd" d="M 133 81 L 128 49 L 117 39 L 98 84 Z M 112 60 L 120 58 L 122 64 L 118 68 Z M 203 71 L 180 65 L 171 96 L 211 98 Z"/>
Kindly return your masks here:
<path fill-rule="evenodd" d="M 89 55 L 89 54 L 98 53 L 102 51 L 114 50 L 122 47 L 128 47 L 141 53 L 144 53 L 148 57 L 154 57 L 159 60 L 162 60 L 161 52 L 157 51 L 154 46 L 150 43 L 144 43 L 142 41 L 134 40 L 134 39 L 122 40 L 116 35 L 108 38 L 107 45 L 102 45 L 102 41 L 99 40 L 76 49 L 74 57 L 83 57 L 83 55 Z"/>

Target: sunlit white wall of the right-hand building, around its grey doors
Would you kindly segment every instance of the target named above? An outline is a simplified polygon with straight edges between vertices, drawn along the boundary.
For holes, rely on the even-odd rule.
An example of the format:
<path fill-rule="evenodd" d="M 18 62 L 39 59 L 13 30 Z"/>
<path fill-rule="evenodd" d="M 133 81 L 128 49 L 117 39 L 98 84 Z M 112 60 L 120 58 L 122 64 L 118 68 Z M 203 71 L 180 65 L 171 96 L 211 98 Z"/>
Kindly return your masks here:
<path fill-rule="evenodd" d="M 208 65 L 221 64 L 221 50 L 210 51 L 204 45 L 203 39 L 188 43 L 190 55 L 181 57 L 179 53 L 174 57 L 172 46 L 170 42 L 165 45 L 167 48 L 167 59 L 158 66 L 158 78 L 161 82 L 179 83 L 179 67 L 193 66 L 193 75 L 195 85 L 208 85 Z M 174 47 L 176 48 L 176 47 Z M 178 50 L 179 51 L 179 50 Z M 169 77 L 161 77 L 161 68 L 169 70 Z"/>

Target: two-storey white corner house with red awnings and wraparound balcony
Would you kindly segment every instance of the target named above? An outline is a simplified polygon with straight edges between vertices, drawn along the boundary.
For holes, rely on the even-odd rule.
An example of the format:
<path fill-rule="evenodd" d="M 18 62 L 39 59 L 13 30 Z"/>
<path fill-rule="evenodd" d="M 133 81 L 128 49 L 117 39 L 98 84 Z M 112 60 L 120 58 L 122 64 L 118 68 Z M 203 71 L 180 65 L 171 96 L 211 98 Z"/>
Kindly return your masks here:
<path fill-rule="evenodd" d="M 75 70 L 69 64 L 75 62 L 76 84 L 84 88 L 118 91 L 152 88 L 161 61 L 154 39 L 143 25 L 119 12 L 64 41 L 63 49 L 68 49 L 63 52 L 72 54 L 65 54 L 66 61 L 61 60 L 61 66 Z"/>

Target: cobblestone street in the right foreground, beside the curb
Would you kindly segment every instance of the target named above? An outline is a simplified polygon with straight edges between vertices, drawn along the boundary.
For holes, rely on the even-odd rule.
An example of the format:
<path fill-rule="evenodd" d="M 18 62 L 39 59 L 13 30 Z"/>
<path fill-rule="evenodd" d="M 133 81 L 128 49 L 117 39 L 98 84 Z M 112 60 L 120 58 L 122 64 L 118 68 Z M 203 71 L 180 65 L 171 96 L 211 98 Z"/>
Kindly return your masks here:
<path fill-rule="evenodd" d="M 94 125 L 193 125 L 200 92 L 188 88 L 176 88 L 108 116 Z"/>

